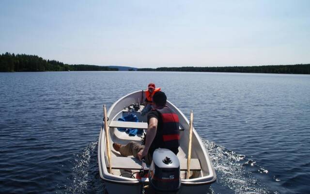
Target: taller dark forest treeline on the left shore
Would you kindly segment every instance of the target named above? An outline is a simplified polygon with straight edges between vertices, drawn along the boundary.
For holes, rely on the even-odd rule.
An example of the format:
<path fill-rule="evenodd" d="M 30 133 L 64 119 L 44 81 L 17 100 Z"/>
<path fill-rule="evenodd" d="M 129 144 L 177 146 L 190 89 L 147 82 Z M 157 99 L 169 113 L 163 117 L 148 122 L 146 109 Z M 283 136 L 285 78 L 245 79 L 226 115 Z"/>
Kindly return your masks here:
<path fill-rule="evenodd" d="M 36 55 L 4 53 L 0 55 L 0 71 L 118 71 L 118 68 L 98 65 L 68 65 L 45 60 Z"/>

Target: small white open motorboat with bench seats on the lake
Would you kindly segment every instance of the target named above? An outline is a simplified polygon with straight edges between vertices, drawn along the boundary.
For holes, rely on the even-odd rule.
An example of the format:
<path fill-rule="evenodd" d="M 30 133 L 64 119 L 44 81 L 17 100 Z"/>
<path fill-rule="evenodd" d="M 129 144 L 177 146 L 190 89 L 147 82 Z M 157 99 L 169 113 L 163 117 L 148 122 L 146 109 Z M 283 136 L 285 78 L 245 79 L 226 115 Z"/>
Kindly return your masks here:
<path fill-rule="evenodd" d="M 143 186 L 149 185 L 149 178 L 136 178 L 142 168 L 139 159 L 134 157 L 124 157 L 113 149 L 112 144 L 127 144 L 130 141 L 141 142 L 141 135 L 129 136 L 126 132 L 118 128 L 147 130 L 147 116 L 141 115 L 143 109 L 143 91 L 133 92 L 117 100 L 107 113 L 107 128 L 110 147 L 110 164 L 108 159 L 107 138 L 104 125 L 100 129 L 98 141 L 98 164 L 100 177 L 103 179 L 109 194 L 140 194 Z M 190 160 L 189 179 L 187 174 L 187 152 L 189 142 L 189 121 L 185 115 L 167 100 L 167 106 L 174 110 L 179 116 L 180 146 L 177 158 L 180 164 L 181 186 L 178 194 L 195 194 L 208 191 L 210 185 L 216 181 L 216 173 L 211 163 L 210 157 L 202 143 L 196 130 L 192 132 L 192 153 Z M 135 114 L 139 122 L 118 121 L 128 114 Z M 111 172 L 109 171 L 111 165 Z"/>

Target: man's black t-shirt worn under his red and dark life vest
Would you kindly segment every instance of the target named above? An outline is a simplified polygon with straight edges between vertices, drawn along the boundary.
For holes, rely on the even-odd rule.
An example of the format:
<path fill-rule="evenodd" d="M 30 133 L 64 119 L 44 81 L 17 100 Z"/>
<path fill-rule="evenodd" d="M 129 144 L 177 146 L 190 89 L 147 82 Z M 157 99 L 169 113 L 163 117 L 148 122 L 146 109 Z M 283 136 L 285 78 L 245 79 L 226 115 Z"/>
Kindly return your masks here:
<path fill-rule="evenodd" d="M 149 124 L 151 118 L 156 118 L 158 120 L 157 122 L 157 131 L 155 138 L 150 146 L 149 153 L 151 156 L 153 156 L 153 153 L 155 149 L 159 147 L 164 147 L 163 145 L 159 145 L 158 142 L 162 142 L 162 129 L 163 129 L 163 120 L 161 118 L 161 115 L 158 111 L 151 110 L 147 115 L 147 124 Z M 175 155 L 179 152 L 179 149 L 177 147 L 171 147 L 169 148 Z"/>

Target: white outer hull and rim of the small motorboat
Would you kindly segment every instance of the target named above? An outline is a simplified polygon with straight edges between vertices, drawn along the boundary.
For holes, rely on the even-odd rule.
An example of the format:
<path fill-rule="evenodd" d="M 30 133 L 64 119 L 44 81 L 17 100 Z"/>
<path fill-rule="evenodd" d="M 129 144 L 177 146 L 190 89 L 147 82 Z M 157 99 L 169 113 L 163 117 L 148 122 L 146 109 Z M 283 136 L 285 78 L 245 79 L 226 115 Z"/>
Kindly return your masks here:
<path fill-rule="evenodd" d="M 120 113 L 123 113 L 124 107 L 127 107 L 128 104 L 132 103 L 141 103 L 140 99 L 142 99 L 143 96 L 141 95 L 141 91 L 137 91 L 131 94 L 128 94 L 121 99 L 117 100 L 109 109 L 109 112 L 107 113 L 107 116 L 109 117 L 108 125 L 110 125 L 111 121 L 117 120 Z M 178 113 L 179 116 L 179 124 L 180 128 L 182 126 L 182 131 L 180 132 L 181 142 L 180 142 L 180 149 L 178 153 L 179 160 L 186 160 L 187 156 L 187 148 L 188 148 L 188 131 L 189 131 L 189 121 L 187 120 L 186 116 L 177 108 L 175 107 L 171 102 L 167 101 L 167 105 L 173 109 L 176 113 Z M 139 116 L 139 120 L 141 118 L 140 113 L 137 114 Z M 146 122 L 146 117 L 144 118 L 144 122 Z M 145 128 L 144 128 L 145 129 Z M 109 141 L 110 145 L 114 142 L 116 143 L 124 143 L 120 141 L 124 141 L 123 136 L 118 136 L 119 131 L 116 128 L 109 129 Z M 135 141 L 138 142 L 140 140 L 139 138 Z M 99 164 L 99 173 L 100 177 L 103 179 L 106 190 L 109 194 L 140 194 L 142 186 L 143 185 L 149 185 L 148 178 L 146 180 L 139 180 L 136 178 L 125 178 L 120 177 L 119 175 L 115 174 L 115 170 L 113 173 L 108 172 L 109 167 L 108 166 L 108 160 L 107 160 L 107 147 L 106 147 L 106 134 L 105 130 L 101 128 L 100 134 L 99 134 L 99 141 L 98 141 L 98 164 Z M 192 146 L 195 147 L 194 152 L 192 152 L 192 158 L 195 158 L 196 160 L 199 160 L 201 171 L 198 172 L 200 174 L 198 178 L 193 179 L 181 179 L 181 187 L 177 194 L 188 194 L 195 192 L 195 194 L 206 194 L 210 193 L 209 188 L 210 185 L 216 181 L 216 174 L 215 170 L 213 168 L 213 165 L 211 163 L 210 157 L 207 153 L 207 151 L 204 148 L 204 145 L 202 143 L 202 140 L 200 139 L 198 133 L 193 128 L 193 142 Z M 115 153 L 115 150 L 113 154 Z M 117 161 L 114 160 L 113 164 L 117 163 Z M 116 164 L 115 164 L 116 165 Z M 183 171 L 184 172 L 184 171 Z M 184 173 L 183 173 L 184 175 Z"/>

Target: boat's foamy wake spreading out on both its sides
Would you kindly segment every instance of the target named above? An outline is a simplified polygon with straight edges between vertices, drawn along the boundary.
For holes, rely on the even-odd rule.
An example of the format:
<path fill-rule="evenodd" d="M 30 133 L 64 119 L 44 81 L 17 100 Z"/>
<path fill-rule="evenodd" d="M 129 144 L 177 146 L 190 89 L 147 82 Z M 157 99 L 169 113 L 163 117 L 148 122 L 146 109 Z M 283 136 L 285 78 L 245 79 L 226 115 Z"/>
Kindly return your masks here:
<path fill-rule="evenodd" d="M 268 174 L 268 170 L 260 167 L 255 161 L 203 138 L 202 142 L 217 173 L 217 182 L 211 185 L 209 193 L 226 193 L 227 190 L 222 191 L 224 186 L 235 194 L 279 194 L 270 192 L 253 177 L 253 168 L 259 174 Z M 69 181 L 62 193 L 80 194 L 90 191 L 105 193 L 105 186 L 98 175 L 97 144 L 98 142 L 92 142 L 80 153 L 75 154 L 72 160 L 72 175 L 67 178 Z"/>

